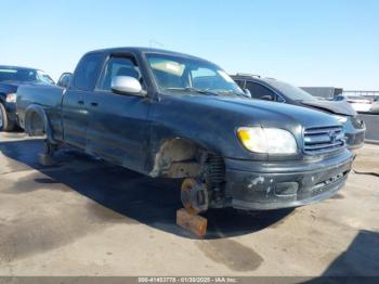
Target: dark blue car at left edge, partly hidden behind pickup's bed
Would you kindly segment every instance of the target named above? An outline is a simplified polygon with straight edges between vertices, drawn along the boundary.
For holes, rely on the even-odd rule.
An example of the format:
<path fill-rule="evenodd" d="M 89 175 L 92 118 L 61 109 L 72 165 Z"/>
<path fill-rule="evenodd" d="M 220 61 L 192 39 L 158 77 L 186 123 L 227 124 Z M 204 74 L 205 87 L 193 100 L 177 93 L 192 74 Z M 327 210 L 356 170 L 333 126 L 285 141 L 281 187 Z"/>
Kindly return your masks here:
<path fill-rule="evenodd" d="M 17 126 L 16 92 L 25 83 L 54 85 L 54 80 L 39 69 L 0 66 L 0 131 L 11 131 Z"/>

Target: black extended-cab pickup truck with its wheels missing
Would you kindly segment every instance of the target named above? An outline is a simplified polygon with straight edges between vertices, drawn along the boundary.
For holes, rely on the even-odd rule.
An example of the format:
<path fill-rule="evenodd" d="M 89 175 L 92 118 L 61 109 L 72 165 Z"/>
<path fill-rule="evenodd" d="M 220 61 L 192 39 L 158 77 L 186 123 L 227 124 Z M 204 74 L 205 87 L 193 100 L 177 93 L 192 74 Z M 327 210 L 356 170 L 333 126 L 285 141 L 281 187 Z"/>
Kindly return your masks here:
<path fill-rule="evenodd" d="M 87 53 L 69 86 L 24 86 L 21 126 L 149 177 L 183 179 L 184 207 L 276 209 L 328 198 L 353 156 L 332 116 L 245 99 L 219 66 L 181 53 Z"/>

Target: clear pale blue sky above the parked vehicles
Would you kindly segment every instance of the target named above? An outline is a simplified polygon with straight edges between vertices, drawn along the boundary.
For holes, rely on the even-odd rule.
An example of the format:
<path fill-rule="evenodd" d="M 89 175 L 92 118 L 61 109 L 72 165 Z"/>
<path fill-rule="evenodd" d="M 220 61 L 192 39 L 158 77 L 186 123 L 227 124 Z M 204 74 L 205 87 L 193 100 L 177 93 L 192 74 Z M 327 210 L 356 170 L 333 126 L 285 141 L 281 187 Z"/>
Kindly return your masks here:
<path fill-rule="evenodd" d="M 379 90 L 377 0 L 0 0 L 0 65 L 57 79 L 90 50 L 154 47 L 296 86 Z"/>

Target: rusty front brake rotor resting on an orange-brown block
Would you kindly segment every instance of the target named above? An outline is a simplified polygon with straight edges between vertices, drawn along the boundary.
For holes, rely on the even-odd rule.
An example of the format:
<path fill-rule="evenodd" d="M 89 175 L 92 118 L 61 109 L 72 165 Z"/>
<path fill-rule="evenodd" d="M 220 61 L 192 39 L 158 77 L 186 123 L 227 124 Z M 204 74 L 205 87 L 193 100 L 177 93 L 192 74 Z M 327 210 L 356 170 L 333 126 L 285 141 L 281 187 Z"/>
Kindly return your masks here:
<path fill-rule="evenodd" d="M 190 214 L 199 214 L 208 209 L 207 188 L 195 179 L 185 179 L 181 188 L 181 199 Z"/>

